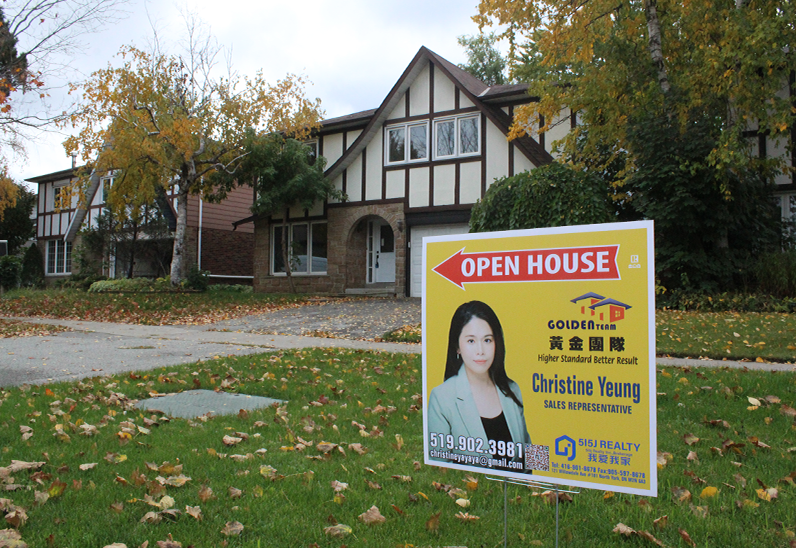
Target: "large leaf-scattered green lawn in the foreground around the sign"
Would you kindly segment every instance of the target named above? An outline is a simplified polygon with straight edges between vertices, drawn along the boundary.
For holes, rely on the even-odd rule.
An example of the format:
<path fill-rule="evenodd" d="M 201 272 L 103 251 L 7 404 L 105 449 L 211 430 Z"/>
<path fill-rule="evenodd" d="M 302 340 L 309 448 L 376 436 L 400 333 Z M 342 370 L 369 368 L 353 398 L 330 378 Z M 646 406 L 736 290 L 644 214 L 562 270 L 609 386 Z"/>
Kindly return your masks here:
<path fill-rule="evenodd" d="M 420 369 L 416 355 L 326 349 L 224 358 L 47 387 L 6 388 L 0 390 L 0 466 L 8 466 L 12 459 L 45 464 L 40 473 L 12 474 L 13 483 L 22 488 L 2 497 L 25 508 L 28 521 L 20 532 L 29 546 L 82 548 L 114 542 L 140 546 L 144 541 L 154 546 L 169 534 L 182 546 L 197 547 L 221 546 L 224 540 L 229 546 L 252 548 L 499 546 L 500 483 L 477 475 L 477 489 L 466 494 L 471 501 L 466 511 L 480 519 L 465 523 L 455 518 L 461 508 L 434 482 L 467 489 L 466 474 L 416 464 L 422 461 L 422 413 L 416 406 Z M 561 506 L 562 546 L 651 545 L 613 533 L 619 522 L 649 531 L 671 547 L 686 546 L 678 529 L 700 547 L 788 546 L 796 526 L 796 487 L 782 478 L 796 471 L 796 426 L 786 407 L 796 404 L 796 377 L 667 369 L 658 380 L 658 444 L 660 451 L 670 454 L 659 471 L 658 498 L 606 497 L 602 491 L 584 490 Z M 139 432 L 121 444 L 124 440 L 118 433 L 123 422 L 145 426 L 144 419 L 150 417 L 130 408 L 125 398 L 196 386 L 214 389 L 222 383 L 229 386 L 227 390 L 288 403 L 281 410 L 268 408 L 206 422 L 159 421 L 159 426 L 148 427 L 149 434 Z M 750 410 L 750 396 L 762 400 L 758 408 Z M 765 400 L 767 396 L 778 396 L 781 402 Z M 54 405 L 56 401 L 60 405 Z M 711 420 L 727 421 L 728 427 L 712 426 Z M 354 421 L 364 426 L 368 436 L 359 433 Z M 84 424 L 96 426 L 97 435 L 80 435 Z M 54 435 L 57 425 L 68 434 L 68 441 Z M 22 441 L 20 426 L 32 428 L 33 437 Z M 224 436 L 237 432 L 247 433 L 248 439 L 226 447 Z M 689 434 L 699 441 L 688 445 L 684 436 Z M 312 443 L 297 450 L 299 438 Z M 750 438 L 770 448 L 755 446 Z M 722 454 L 711 450 L 726 447 L 728 439 L 743 446 Z M 345 455 L 334 449 L 325 456 L 317 448 L 321 441 L 340 444 Z M 361 443 L 367 453 L 359 455 L 349 448 L 354 443 Z M 261 448 L 266 450 L 262 455 L 257 453 Z M 687 460 L 690 451 L 698 460 Z M 105 459 L 109 453 L 126 459 L 113 464 Z M 233 454 L 251 457 L 237 461 Z M 182 465 L 182 473 L 191 480 L 162 491 L 156 477 L 168 474 L 151 471 L 147 463 L 164 461 Z M 84 463 L 97 465 L 81 471 Z M 274 477 L 264 477 L 262 466 L 274 468 Z M 264 470 L 270 476 L 269 469 Z M 401 476 L 410 476 L 411 481 Z M 344 500 L 335 500 L 334 480 L 349 485 Z M 35 492 L 47 491 L 56 481 L 65 484 L 63 493 L 36 504 Z M 372 488 L 368 481 L 382 489 Z M 772 501 L 760 499 L 756 490 L 761 485 L 778 488 L 778 496 Z M 203 500 L 204 487 L 211 488 L 215 498 Z M 242 490 L 242 496 L 231 498 L 230 487 Z M 688 489 L 691 500 L 675 502 L 672 489 L 677 487 Z M 716 487 L 718 494 L 700 499 L 705 487 Z M 142 502 L 150 492 L 156 501 L 164 494 L 172 497 L 174 508 L 182 513 L 158 524 L 141 523 L 147 512 L 158 510 Z M 538 495 L 509 486 L 510 546 L 554 545 L 554 506 Z M 373 505 L 385 523 L 359 521 L 357 516 Z M 199 506 L 203 519 L 187 515 L 186 506 Z M 435 515 L 439 515 L 438 529 L 428 530 L 426 524 Z M 653 521 L 662 516 L 668 516 L 668 525 L 655 529 Z M 224 537 L 221 530 L 233 521 L 244 525 L 243 533 Z M 349 525 L 352 534 L 343 539 L 325 535 L 324 527 L 334 523 Z"/>

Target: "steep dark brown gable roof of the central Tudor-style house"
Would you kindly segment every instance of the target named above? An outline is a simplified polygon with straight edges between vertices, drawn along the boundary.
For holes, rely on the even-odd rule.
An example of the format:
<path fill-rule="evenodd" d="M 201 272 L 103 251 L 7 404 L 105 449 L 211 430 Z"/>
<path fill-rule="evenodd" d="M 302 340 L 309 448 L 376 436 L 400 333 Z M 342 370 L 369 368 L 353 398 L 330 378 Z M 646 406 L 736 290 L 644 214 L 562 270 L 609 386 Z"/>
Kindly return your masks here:
<path fill-rule="evenodd" d="M 372 111 L 372 115 L 369 115 L 370 119 L 362 130 L 362 133 L 360 133 L 351 146 L 343 152 L 343 155 L 326 170 L 326 176 L 328 178 L 334 179 L 340 175 L 343 170 L 350 166 L 359 154 L 362 153 L 368 143 L 373 140 L 373 137 L 381 130 L 381 126 L 387 120 L 387 117 L 393 111 L 398 101 L 401 100 L 406 90 L 409 89 L 417 76 L 426 67 L 426 62 L 433 63 L 434 66 L 447 76 L 493 124 L 504 134 L 508 134 L 509 127 L 512 123 L 511 117 L 503 112 L 499 106 L 488 103 L 492 103 L 490 99 L 494 100 L 505 97 L 524 97 L 525 100 L 527 100 L 527 85 L 511 84 L 507 86 L 489 87 L 472 74 L 459 68 L 447 59 L 443 59 L 425 46 L 422 46 L 390 90 L 390 93 L 388 93 L 387 97 L 382 101 L 379 108 Z M 342 121 L 341 119 L 350 117 L 358 117 L 361 121 L 363 118 L 367 118 L 368 115 L 366 113 L 370 112 L 371 111 L 363 111 L 361 113 L 326 120 L 322 123 L 322 128 L 331 128 L 333 124 L 340 123 Z M 353 120 L 350 121 L 353 122 Z M 521 137 L 515 139 L 513 143 L 517 147 L 517 150 L 522 152 L 522 154 L 537 167 L 553 161 L 553 157 L 550 153 L 531 137 Z"/>

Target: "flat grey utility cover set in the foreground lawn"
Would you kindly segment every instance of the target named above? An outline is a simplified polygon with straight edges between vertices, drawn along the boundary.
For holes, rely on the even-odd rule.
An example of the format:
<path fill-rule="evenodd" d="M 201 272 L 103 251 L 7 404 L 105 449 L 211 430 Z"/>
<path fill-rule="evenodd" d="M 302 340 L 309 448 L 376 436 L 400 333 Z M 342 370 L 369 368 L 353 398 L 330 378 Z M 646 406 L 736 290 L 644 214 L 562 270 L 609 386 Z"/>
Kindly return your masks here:
<path fill-rule="evenodd" d="M 136 407 L 148 411 L 160 411 L 172 417 L 193 419 L 208 413 L 213 415 L 233 415 L 241 409 L 251 411 L 282 403 L 284 403 L 282 400 L 263 396 L 228 394 L 212 390 L 188 390 L 179 394 L 168 394 L 158 398 L 141 400 L 136 404 Z"/>

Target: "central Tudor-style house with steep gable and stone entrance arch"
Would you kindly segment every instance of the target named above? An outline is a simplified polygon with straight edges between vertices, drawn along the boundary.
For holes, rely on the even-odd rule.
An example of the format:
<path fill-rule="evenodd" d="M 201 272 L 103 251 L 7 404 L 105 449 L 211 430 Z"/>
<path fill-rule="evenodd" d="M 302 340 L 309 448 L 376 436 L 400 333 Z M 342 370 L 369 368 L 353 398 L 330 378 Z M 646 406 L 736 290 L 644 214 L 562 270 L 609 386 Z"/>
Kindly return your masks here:
<path fill-rule="evenodd" d="M 325 120 L 308 143 L 345 201 L 236 223 L 255 224 L 255 291 L 288 290 L 285 221 L 298 291 L 420 296 L 423 237 L 468 232 L 491 182 L 551 162 L 574 125 L 564 113 L 538 141 L 509 142 L 513 109 L 532 100 L 526 85 L 489 87 L 420 48 L 377 109 Z"/>

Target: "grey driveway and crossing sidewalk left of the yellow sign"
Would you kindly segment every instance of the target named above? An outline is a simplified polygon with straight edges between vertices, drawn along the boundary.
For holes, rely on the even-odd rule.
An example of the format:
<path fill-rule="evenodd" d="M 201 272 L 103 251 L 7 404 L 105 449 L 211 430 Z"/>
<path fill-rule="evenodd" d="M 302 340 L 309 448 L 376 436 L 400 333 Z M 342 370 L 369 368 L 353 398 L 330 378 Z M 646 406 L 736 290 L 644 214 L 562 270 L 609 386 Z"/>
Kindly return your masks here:
<path fill-rule="evenodd" d="M 73 331 L 0 339 L 0 387 L 151 370 L 278 349 L 420 352 L 417 344 L 373 342 L 387 331 L 420 323 L 419 299 L 329 299 L 202 326 L 16 319 L 63 325 Z"/>

